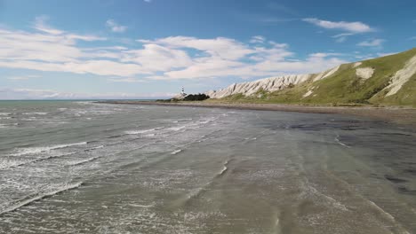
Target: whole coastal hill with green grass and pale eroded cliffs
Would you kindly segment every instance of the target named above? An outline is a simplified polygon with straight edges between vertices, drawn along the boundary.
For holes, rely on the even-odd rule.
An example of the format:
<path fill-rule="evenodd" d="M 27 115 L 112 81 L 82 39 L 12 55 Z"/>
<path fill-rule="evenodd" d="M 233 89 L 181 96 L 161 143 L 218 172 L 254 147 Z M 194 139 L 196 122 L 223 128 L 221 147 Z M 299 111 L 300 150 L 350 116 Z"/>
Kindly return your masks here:
<path fill-rule="evenodd" d="M 242 102 L 416 106 L 416 48 L 343 64 L 320 74 L 235 83 L 205 94 Z"/>

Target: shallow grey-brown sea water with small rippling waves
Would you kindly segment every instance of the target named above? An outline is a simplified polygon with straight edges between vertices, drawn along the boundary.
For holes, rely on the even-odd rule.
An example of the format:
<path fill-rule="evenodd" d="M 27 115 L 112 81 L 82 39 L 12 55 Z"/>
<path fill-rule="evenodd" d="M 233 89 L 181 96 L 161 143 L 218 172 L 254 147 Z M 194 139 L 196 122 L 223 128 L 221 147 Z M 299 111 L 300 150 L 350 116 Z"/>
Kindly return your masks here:
<path fill-rule="evenodd" d="M 0 102 L 0 233 L 416 233 L 415 152 L 341 115 Z"/>

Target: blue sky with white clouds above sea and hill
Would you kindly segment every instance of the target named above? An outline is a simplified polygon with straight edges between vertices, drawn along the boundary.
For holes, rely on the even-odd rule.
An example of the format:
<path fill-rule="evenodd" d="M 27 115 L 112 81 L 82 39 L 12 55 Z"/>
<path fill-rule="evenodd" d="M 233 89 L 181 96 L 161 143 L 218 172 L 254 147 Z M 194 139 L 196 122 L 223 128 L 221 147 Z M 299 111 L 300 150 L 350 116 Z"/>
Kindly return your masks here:
<path fill-rule="evenodd" d="M 0 99 L 170 98 L 416 45 L 414 0 L 0 0 Z"/>

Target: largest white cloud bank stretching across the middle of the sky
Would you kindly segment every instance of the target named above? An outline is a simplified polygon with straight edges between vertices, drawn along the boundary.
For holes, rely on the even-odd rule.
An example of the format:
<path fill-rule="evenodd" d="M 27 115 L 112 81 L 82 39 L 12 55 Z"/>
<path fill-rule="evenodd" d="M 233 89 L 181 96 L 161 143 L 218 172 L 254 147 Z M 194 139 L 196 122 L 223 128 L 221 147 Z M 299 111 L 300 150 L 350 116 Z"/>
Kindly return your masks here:
<path fill-rule="evenodd" d="M 170 36 L 137 40 L 131 45 L 89 46 L 79 41 L 105 40 L 94 35 L 76 35 L 36 20 L 35 31 L 0 27 L 0 67 L 44 72 L 96 74 L 108 82 L 137 82 L 143 79 L 205 79 L 234 76 L 243 79 L 319 72 L 343 61 L 336 53 L 316 53 L 293 58 L 286 43 L 268 41 L 242 43 L 232 38 Z M 46 28 L 46 29 L 45 29 Z M 141 48 L 138 48 L 138 42 Z"/>

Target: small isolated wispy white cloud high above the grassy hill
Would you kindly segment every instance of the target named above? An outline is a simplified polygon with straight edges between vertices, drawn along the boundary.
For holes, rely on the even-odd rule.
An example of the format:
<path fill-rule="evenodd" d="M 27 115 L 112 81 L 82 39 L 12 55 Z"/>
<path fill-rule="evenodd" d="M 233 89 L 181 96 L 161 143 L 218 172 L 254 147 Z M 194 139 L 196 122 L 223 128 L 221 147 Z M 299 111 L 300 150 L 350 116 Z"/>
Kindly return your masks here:
<path fill-rule="evenodd" d="M 316 25 L 317 27 L 324 27 L 326 29 L 339 29 L 350 33 L 369 33 L 375 31 L 374 28 L 362 22 L 346 22 L 346 21 L 328 21 L 319 20 L 316 18 L 306 18 L 303 21 Z"/>

